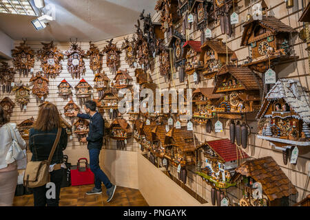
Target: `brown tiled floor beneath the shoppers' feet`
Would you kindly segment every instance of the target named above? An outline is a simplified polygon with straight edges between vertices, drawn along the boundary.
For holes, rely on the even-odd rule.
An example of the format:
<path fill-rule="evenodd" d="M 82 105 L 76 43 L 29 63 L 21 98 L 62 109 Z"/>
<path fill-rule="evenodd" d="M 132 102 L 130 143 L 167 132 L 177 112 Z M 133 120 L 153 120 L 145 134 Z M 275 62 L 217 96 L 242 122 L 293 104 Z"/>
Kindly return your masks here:
<path fill-rule="evenodd" d="M 148 206 L 139 190 L 117 186 L 112 201 L 107 203 L 103 186 L 101 195 L 85 195 L 94 185 L 61 188 L 59 206 Z M 33 195 L 14 197 L 14 206 L 33 206 Z"/>

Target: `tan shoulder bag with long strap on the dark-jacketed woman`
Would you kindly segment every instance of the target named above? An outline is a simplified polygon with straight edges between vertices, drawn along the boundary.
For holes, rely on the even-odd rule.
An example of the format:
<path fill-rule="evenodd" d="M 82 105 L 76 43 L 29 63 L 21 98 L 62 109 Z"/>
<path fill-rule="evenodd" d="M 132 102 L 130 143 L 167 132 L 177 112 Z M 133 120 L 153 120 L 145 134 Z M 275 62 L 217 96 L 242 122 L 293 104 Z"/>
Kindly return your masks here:
<path fill-rule="evenodd" d="M 25 175 L 23 176 L 24 186 L 28 188 L 35 188 L 39 186 L 44 186 L 50 181 L 50 172 L 49 172 L 50 162 L 54 155 L 60 136 L 61 136 L 61 129 L 58 129 L 56 140 L 52 147 L 52 151 L 50 151 L 50 156 L 48 157 L 48 160 L 28 162 L 27 167 L 25 169 Z"/>

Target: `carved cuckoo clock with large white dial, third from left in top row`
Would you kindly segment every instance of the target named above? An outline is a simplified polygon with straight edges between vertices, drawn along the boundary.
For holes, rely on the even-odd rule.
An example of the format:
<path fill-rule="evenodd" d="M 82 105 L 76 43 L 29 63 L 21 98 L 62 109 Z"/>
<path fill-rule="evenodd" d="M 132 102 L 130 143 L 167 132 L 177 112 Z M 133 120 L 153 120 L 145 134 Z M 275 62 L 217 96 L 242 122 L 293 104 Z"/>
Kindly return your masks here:
<path fill-rule="evenodd" d="M 70 49 L 65 52 L 65 56 L 68 57 L 67 69 L 72 78 L 81 78 L 81 75 L 85 74 L 85 63 L 83 60 L 85 52 L 77 45 L 77 41 L 71 41 Z"/>

